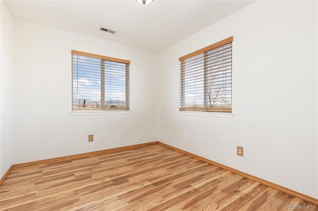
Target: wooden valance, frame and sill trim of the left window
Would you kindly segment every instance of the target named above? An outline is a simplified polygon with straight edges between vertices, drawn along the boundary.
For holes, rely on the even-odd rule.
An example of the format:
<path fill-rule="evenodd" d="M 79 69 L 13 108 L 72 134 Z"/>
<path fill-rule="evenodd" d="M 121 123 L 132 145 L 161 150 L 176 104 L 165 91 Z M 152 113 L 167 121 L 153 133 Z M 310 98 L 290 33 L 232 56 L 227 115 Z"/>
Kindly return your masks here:
<path fill-rule="evenodd" d="M 99 58 L 101 59 L 101 64 L 103 64 L 105 62 L 105 60 L 107 61 L 114 61 L 114 62 L 119 62 L 119 63 L 124 63 L 127 65 L 130 64 L 130 60 L 126 60 L 126 59 L 121 59 L 121 58 L 115 58 L 115 57 L 109 57 L 109 56 L 104 56 L 104 55 L 99 55 L 99 54 L 94 54 L 94 53 L 86 53 L 86 52 L 80 52 L 80 51 L 75 51 L 72 50 L 71 51 L 71 55 L 72 55 L 72 102 L 71 102 L 71 113 L 79 113 L 79 112 L 87 112 L 87 113 L 92 113 L 92 112 L 110 112 L 110 111 L 115 111 L 118 112 L 119 111 L 130 111 L 130 102 L 129 102 L 129 107 L 121 107 L 121 108 L 110 108 L 110 107 L 100 107 L 100 108 L 73 108 L 73 54 L 76 55 L 81 55 L 81 56 L 87 56 L 87 57 L 93 57 L 93 58 Z M 102 67 L 103 65 L 101 65 L 101 69 L 103 69 Z M 126 73 L 127 74 L 127 73 Z M 101 73 L 101 80 L 102 78 L 105 77 L 105 74 Z M 101 84 L 105 83 L 101 81 Z M 130 83 L 128 83 L 130 84 Z M 129 86 L 129 85 L 128 85 Z M 101 104 L 102 104 L 102 99 L 105 99 L 105 96 L 102 96 L 104 90 L 100 91 L 101 94 Z M 127 88 L 126 88 L 126 95 L 127 95 Z M 128 100 L 130 101 L 130 94 L 128 94 Z M 105 100 L 104 100 L 105 101 Z M 126 96 L 126 101 L 127 101 L 127 96 Z"/>

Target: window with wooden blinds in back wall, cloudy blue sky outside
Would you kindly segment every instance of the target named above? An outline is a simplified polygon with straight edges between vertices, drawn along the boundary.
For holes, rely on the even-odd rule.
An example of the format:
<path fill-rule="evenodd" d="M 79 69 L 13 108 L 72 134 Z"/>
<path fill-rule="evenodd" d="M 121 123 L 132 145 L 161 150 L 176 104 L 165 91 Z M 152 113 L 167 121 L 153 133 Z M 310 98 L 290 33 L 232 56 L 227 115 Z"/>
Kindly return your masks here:
<path fill-rule="evenodd" d="M 72 50 L 72 110 L 129 110 L 129 64 Z"/>

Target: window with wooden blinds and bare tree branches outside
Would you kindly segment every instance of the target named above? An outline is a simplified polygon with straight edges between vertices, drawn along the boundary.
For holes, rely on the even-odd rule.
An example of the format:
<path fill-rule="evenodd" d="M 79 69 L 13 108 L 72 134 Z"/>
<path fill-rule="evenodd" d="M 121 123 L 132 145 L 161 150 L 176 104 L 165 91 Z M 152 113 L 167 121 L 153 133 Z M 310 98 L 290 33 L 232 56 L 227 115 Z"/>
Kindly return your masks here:
<path fill-rule="evenodd" d="M 232 112 L 233 37 L 179 58 L 179 110 Z"/>

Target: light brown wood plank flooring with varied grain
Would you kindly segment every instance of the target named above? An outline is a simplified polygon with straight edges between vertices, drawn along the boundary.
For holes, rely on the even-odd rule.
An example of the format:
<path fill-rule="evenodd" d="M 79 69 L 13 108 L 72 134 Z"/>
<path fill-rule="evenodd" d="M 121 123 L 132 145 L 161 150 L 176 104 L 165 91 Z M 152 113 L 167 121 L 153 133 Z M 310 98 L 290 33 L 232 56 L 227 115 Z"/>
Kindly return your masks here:
<path fill-rule="evenodd" d="M 1 211 L 283 211 L 286 205 L 312 204 L 158 144 L 16 168 L 0 186 Z"/>

